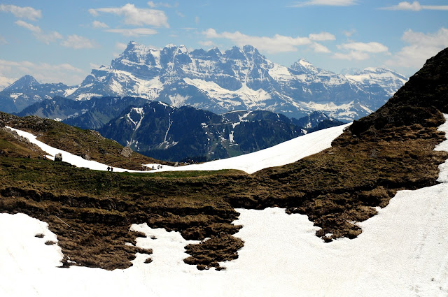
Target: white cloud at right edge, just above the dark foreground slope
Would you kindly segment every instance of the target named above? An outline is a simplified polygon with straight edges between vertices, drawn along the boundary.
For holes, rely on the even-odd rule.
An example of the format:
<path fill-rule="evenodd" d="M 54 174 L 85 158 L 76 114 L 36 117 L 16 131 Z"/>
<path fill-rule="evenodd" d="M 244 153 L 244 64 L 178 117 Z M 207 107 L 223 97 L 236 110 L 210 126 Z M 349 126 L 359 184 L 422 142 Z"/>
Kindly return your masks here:
<path fill-rule="evenodd" d="M 433 34 L 414 32 L 409 29 L 405 31 L 401 39 L 409 45 L 386 61 L 386 65 L 418 69 L 427 59 L 448 47 L 448 29 L 440 28 Z"/>

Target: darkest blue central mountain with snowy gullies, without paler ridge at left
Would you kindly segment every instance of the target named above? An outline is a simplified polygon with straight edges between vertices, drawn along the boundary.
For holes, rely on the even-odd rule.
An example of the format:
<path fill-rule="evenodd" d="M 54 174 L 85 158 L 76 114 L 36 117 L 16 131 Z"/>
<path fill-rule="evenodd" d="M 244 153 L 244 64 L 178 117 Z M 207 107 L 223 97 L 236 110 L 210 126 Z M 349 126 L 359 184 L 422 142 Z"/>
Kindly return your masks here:
<path fill-rule="evenodd" d="M 301 121 L 307 125 L 304 129 L 288 117 L 269 111 L 216 115 L 193 107 L 151 102 L 129 108 L 99 132 L 156 159 L 206 161 L 255 152 L 303 135 L 315 127 L 307 119 Z M 330 126 L 339 124 L 343 123 L 334 120 Z"/>

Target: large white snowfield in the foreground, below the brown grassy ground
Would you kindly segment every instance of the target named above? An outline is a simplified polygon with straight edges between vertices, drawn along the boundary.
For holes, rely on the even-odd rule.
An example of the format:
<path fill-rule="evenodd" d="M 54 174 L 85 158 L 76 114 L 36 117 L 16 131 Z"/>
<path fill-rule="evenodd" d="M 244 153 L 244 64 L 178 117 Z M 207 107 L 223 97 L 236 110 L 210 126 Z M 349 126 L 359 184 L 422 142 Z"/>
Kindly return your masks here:
<path fill-rule="evenodd" d="M 448 141 L 435 150 L 448 151 Z M 280 208 L 238 209 L 245 244 L 223 271 L 184 264 L 190 241 L 146 224 L 132 229 L 147 234 L 137 246 L 153 249 L 152 263 L 137 254 L 126 270 L 57 268 L 62 254 L 45 245 L 55 241 L 45 223 L 1 214 L 0 296 L 448 296 L 448 161 L 439 181 L 398 191 L 353 240 L 324 243 L 307 216 Z"/>

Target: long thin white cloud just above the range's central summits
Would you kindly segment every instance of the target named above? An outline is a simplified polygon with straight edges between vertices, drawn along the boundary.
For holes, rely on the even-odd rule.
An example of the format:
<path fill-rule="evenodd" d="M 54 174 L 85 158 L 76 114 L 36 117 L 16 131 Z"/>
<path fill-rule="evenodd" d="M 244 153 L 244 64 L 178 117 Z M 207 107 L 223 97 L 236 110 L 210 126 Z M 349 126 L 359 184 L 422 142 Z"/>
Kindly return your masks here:
<path fill-rule="evenodd" d="M 319 34 L 309 34 L 308 37 L 291 37 L 275 34 L 273 37 L 267 36 L 249 36 L 242 34 L 239 31 L 218 33 L 215 29 L 207 29 L 202 34 L 207 38 L 224 38 L 232 41 L 238 46 L 246 44 L 253 45 L 258 50 L 269 53 L 277 52 L 295 52 L 300 45 L 310 45 L 311 49 L 318 52 L 329 52 L 328 48 L 323 45 L 314 43 L 313 41 L 328 41 L 334 40 L 335 36 L 332 34 L 321 32 Z M 326 49 L 326 50 L 325 50 Z M 328 51 L 327 51 L 328 50 Z"/>

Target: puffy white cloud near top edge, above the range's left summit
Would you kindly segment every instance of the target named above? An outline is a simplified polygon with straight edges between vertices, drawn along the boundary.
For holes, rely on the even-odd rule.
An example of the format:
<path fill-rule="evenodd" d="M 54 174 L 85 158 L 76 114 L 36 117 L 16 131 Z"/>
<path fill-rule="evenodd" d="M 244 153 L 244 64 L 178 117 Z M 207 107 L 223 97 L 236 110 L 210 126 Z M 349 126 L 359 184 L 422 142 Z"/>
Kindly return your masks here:
<path fill-rule="evenodd" d="M 116 8 L 90 8 L 89 13 L 94 16 L 98 16 L 99 13 L 112 13 L 114 15 L 120 15 L 124 17 L 125 24 L 169 27 L 168 17 L 162 10 L 136 8 L 134 4 L 130 3 Z"/>

